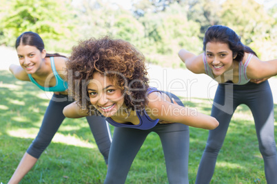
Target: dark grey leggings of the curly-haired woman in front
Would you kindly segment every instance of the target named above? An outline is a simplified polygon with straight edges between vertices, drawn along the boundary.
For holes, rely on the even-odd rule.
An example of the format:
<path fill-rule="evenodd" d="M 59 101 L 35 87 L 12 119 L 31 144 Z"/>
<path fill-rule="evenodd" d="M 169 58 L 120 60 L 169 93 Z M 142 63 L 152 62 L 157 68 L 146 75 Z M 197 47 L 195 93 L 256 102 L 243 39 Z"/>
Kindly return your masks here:
<path fill-rule="evenodd" d="M 167 93 L 170 99 L 183 106 L 181 100 Z M 147 135 L 157 133 L 161 139 L 168 181 L 172 184 L 188 184 L 189 127 L 185 124 L 157 124 L 150 130 L 134 128 L 114 128 L 114 136 L 109 155 L 109 166 L 105 184 L 125 183 L 134 157 L 143 145 Z M 152 155 L 152 157 L 155 157 Z"/>

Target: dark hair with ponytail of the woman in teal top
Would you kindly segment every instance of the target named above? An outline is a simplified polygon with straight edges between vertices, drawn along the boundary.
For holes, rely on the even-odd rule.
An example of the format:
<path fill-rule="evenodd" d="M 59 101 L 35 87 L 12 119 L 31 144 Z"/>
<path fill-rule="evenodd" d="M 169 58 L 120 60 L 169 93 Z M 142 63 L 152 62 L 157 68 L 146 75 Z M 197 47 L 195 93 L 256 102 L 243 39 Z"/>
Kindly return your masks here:
<path fill-rule="evenodd" d="M 30 45 L 33 47 L 37 47 L 39 51 L 43 51 L 44 43 L 41 39 L 41 36 L 35 32 L 23 32 L 19 37 L 17 37 L 17 41 L 15 41 L 15 48 L 19 47 L 19 45 Z M 65 56 L 55 53 L 55 54 L 46 54 L 46 57 L 64 57 Z"/>

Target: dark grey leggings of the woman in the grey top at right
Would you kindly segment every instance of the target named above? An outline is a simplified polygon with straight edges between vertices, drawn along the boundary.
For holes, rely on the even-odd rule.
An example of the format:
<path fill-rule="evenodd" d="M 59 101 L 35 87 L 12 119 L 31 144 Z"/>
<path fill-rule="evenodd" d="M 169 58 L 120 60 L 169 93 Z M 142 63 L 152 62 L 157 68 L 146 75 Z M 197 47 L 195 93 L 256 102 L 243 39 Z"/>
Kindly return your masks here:
<path fill-rule="evenodd" d="M 227 133 L 229 122 L 236 107 L 246 104 L 252 111 L 260 153 L 265 163 L 267 183 L 277 183 L 277 156 L 274 139 L 274 104 L 271 89 L 267 81 L 260 84 L 248 82 L 245 85 L 219 84 L 212 106 L 212 117 L 219 126 L 209 130 L 196 184 L 209 183 L 214 174 L 216 159 Z M 243 148 L 242 148 L 243 149 Z"/>

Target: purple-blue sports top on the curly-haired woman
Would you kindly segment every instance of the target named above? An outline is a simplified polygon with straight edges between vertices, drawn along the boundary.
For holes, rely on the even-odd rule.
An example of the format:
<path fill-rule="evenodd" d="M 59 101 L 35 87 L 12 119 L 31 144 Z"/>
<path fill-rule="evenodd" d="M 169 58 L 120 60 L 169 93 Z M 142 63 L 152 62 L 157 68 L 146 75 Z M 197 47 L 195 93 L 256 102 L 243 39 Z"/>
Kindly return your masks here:
<path fill-rule="evenodd" d="M 147 91 L 148 94 L 158 91 L 158 89 L 154 88 L 154 87 L 150 87 Z M 161 93 L 161 91 L 158 91 Z M 153 128 L 154 126 L 156 126 L 156 124 L 158 124 L 158 121 L 160 119 L 151 119 L 149 117 L 149 115 L 147 115 L 145 109 L 143 109 L 143 113 L 141 115 L 141 111 L 136 111 L 136 115 L 139 117 L 139 124 L 120 124 L 117 122 L 114 122 L 114 120 L 112 120 L 112 118 L 110 117 L 104 117 L 103 115 L 101 115 L 102 117 L 104 117 L 107 122 L 109 122 L 109 124 L 111 124 L 112 126 L 117 126 L 117 127 L 125 127 L 125 128 L 136 128 L 136 129 L 140 129 L 140 130 L 148 130 L 150 128 Z"/>

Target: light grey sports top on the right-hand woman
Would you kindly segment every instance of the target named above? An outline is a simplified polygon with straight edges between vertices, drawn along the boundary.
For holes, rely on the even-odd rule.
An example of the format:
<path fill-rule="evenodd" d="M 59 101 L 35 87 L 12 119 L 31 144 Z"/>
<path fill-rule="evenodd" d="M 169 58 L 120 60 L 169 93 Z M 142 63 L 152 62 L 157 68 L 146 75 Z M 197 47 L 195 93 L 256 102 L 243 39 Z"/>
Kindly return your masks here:
<path fill-rule="evenodd" d="M 239 76 L 238 76 L 238 83 L 236 83 L 237 85 L 247 84 L 247 82 L 250 81 L 250 79 L 247 78 L 246 69 L 247 69 L 247 66 L 248 66 L 250 60 L 252 59 L 252 56 L 253 56 L 253 54 L 249 53 L 249 55 L 248 55 L 244 65 L 243 65 L 243 62 L 238 62 L 238 73 L 239 73 Z M 203 62 L 204 62 L 206 74 L 214 79 L 214 75 L 212 73 L 212 69 L 209 67 L 209 65 L 207 63 L 205 54 L 203 54 Z"/>

